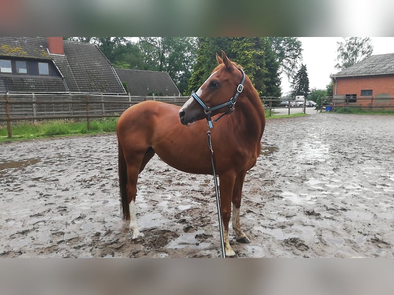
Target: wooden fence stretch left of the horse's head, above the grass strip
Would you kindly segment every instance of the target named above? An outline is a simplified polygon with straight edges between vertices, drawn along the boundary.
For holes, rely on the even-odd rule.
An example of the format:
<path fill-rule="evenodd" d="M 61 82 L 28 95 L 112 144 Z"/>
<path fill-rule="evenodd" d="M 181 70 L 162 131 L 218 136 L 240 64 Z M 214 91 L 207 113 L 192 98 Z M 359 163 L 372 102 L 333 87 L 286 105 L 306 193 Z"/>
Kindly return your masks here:
<path fill-rule="evenodd" d="M 53 120 L 119 117 L 124 110 L 141 101 L 156 100 L 183 105 L 188 97 L 134 97 L 92 94 L 0 94 L 0 122 L 7 122 L 8 137 L 12 137 L 11 122 L 22 120 Z"/>

